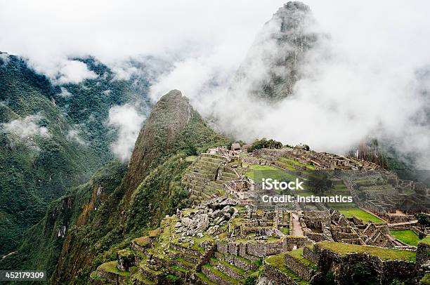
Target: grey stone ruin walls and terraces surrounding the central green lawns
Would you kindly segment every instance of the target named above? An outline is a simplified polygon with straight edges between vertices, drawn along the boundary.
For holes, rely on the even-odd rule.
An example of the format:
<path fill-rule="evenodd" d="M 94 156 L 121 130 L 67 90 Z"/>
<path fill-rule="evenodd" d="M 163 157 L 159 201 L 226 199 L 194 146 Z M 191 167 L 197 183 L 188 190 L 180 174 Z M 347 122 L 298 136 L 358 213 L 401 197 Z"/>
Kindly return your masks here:
<path fill-rule="evenodd" d="M 321 272 L 327 270 L 335 270 L 336 278 L 344 280 L 347 276 L 336 270 L 341 268 L 348 272 L 348 266 L 363 260 L 374 266 L 372 270 L 378 277 L 391 280 L 413 277 L 417 274 L 417 266 L 429 263 L 428 256 L 424 255 L 428 248 L 420 244 L 417 250 L 391 237 L 389 230 L 402 227 L 346 218 L 323 204 L 315 204 L 316 211 L 291 211 L 254 204 L 256 188 L 246 177 L 242 164 L 275 166 L 294 175 L 309 171 L 299 164 L 285 168 L 282 158 L 287 157 L 313 165 L 315 169 L 334 169 L 337 171 L 335 179 L 345 183 L 359 206 L 389 222 L 411 218 L 408 214 L 407 218 L 384 216 L 400 216 L 399 207 L 410 209 L 408 204 L 402 203 L 405 201 L 402 194 L 410 190 L 417 193 L 417 198 L 411 199 L 413 203 L 428 207 L 423 197 L 429 191 L 423 185 L 400 180 L 372 163 L 333 154 L 299 149 L 257 150 L 252 155 L 240 152 L 242 150 L 216 147 L 197 157 L 182 181 L 190 192 L 193 208 L 167 216 L 158 229 L 146 237 L 134 239 L 130 248 L 118 251 L 117 261 L 110 263 L 120 272 L 130 272 L 129 277 L 107 270 L 106 265 L 110 263 L 103 264 L 91 275 L 94 284 L 126 281 L 166 284 L 167 276 L 178 277 L 185 284 L 244 284 L 256 270 L 262 270 L 260 285 L 302 284 L 318 282 Z M 355 170 L 353 175 L 343 175 L 342 171 L 352 169 Z M 368 181 L 375 183 L 372 185 Z M 368 201 L 360 198 L 363 194 Z M 300 205 L 295 206 L 300 208 Z M 295 230 L 297 225 L 299 231 Z M 416 230 L 414 225 L 408 225 L 408 229 Z M 294 235 L 294 231 L 299 234 Z M 392 263 L 367 253 L 344 256 L 330 247 L 325 248 L 325 243 L 386 248 L 384 250 L 396 248 L 407 252 L 417 250 L 417 261 Z M 400 273 L 393 270 L 400 270 Z"/>

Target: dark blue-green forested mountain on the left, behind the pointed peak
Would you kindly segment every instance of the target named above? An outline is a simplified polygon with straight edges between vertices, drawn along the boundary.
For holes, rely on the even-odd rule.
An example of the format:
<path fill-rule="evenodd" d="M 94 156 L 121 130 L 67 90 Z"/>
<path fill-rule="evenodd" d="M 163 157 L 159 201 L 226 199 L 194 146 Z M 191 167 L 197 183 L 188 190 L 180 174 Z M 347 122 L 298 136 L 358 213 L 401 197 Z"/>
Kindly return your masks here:
<path fill-rule="evenodd" d="M 85 183 L 115 158 L 118 128 L 110 108 L 148 110 L 145 75 L 115 79 L 93 58 L 79 59 L 96 74 L 80 84 L 53 84 L 26 60 L 0 54 L 0 254 L 12 251 L 46 206 Z M 144 70 L 144 69 L 143 69 Z M 139 127 L 139 126 L 138 126 Z"/>

